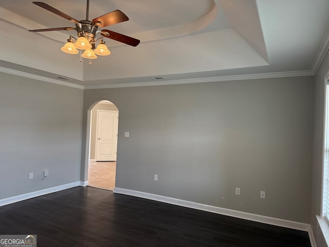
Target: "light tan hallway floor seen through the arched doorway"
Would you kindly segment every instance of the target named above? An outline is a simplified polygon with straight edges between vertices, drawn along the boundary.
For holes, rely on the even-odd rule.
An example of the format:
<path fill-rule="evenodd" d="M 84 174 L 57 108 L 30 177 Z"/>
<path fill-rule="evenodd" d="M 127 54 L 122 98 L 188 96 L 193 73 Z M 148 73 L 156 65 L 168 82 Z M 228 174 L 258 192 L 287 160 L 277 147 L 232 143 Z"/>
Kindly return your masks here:
<path fill-rule="evenodd" d="M 88 186 L 113 190 L 116 162 L 89 162 Z"/>

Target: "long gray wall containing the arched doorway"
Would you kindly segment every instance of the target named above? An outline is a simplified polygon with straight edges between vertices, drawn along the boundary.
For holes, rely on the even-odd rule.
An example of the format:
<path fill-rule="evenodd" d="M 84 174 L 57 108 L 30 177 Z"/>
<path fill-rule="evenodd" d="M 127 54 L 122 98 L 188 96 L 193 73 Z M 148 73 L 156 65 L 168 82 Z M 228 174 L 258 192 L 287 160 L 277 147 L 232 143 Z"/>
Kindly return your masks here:
<path fill-rule="evenodd" d="M 85 90 L 83 146 L 105 99 L 120 112 L 116 187 L 309 222 L 314 77 Z"/>

